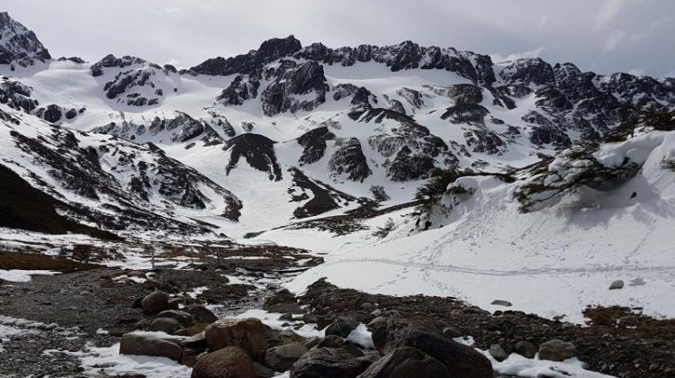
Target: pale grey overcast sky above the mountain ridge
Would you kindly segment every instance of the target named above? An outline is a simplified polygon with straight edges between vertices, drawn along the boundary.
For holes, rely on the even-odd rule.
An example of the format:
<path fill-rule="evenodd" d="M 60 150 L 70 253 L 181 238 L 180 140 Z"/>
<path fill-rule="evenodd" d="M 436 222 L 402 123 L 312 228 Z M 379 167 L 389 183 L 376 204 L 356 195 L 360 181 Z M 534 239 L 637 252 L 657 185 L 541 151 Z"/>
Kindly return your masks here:
<path fill-rule="evenodd" d="M 294 34 L 303 45 L 453 46 L 493 58 L 675 76 L 673 0 L 3 0 L 59 57 L 192 67 Z"/>

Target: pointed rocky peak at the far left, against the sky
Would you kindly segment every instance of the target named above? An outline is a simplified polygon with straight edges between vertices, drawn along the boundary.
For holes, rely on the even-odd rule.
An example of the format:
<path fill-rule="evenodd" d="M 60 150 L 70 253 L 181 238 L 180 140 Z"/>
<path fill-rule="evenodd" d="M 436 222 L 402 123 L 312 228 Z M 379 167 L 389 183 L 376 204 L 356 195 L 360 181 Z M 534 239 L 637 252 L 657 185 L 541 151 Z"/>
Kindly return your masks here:
<path fill-rule="evenodd" d="M 0 64 L 18 64 L 27 67 L 36 60 L 50 59 L 35 33 L 15 21 L 8 13 L 0 13 Z"/>

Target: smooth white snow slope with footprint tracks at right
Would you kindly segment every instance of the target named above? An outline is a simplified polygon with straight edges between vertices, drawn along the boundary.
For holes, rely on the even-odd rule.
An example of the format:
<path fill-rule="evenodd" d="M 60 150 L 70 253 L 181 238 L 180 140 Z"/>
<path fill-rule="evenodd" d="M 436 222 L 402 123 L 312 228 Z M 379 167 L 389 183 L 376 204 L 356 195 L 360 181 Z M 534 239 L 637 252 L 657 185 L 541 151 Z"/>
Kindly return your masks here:
<path fill-rule="evenodd" d="M 521 183 L 465 177 L 464 185 L 476 191 L 452 210 L 445 227 L 408 236 L 409 220 L 394 217 L 400 229 L 393 235 L 356 246 L 349 245 L 356 240 L 343 238 L 325 256 L 326 264 L 289 287 L 302 292 L 326 276 L 338 286 L 369 293 L 455 296 L 489 311 L 504 310 L 491 302 L 506 300 L 512 310 L 565 315 L 575 322 L 583 322 L 587 305 L 641 307 L 671 318 L 675 172 L 664 169 L 662 160 L 675 156 L 675 132 L 606 145 L 596 155 L 607 162 L 633 157 L 644 166 L 613 190 L 584 187 L 527 213 L 510 195 Z M 608 290 L 615 280 L 623 280 L 624 289 Z"/>

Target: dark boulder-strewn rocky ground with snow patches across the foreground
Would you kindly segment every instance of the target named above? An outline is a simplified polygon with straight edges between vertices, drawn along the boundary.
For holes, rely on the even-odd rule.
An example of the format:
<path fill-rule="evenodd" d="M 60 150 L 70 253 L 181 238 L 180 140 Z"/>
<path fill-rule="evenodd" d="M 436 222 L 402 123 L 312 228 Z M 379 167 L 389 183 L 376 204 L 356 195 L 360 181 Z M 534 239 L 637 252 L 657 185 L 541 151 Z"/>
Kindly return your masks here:
<path fill-rule="evenodd" d="M 523 361 L 576 357 L 590 371 L 626 378 L 675 376 L 673 320 L 601 308 L 589 309 L 590 324 L 581 327 L 323 280 L 296 297 L 279 283 L 298 269 L 283 257 L 302 251 L 279 249 L 266 259 L 223 259 L 221 266 L 199 260 L 181 269 L 73 263 L 61 275 L 4 282 L 0 330 L 23 331 L 2 338 L 0 375 L 487 378 L 516 376 L 500 362 L 517 354 Z M 4 265 L 36 264 L 35 255 L 2 257 Z M 261 319 L 240 315 L 261 308 Z M 174 370 L 120 374 L 100 352 L 111 348 L 116 358 L 147 356 Z M 575 376 L 564 367 L 536 374 Z"/>

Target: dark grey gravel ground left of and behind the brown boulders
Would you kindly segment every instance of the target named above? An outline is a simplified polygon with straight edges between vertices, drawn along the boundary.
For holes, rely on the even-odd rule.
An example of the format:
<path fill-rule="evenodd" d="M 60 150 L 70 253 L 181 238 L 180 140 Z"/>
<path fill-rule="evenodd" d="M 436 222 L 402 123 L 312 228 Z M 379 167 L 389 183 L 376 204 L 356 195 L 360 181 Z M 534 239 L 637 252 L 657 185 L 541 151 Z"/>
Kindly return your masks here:
<path fill-rule="evenodd" d="M 253 251 L 244 252 L 260 253 L 249 249 Z M 192 297 L 210 305 L 220 317 L 232 315 L 259 308 L 262 299 L 286 277 L 275 270 L 293 268 L 293 260 L 305 257 L 282 248 L 268 255 L 245 260 L 245 270 L 238 269 L 242 262 L 237 260 L 226 260 L 227 265 L 219 271 L 204 266 L 157 270 L 153 272 L 157 281 L 153 282 L 163 284 L 160 288 L 175 297 L 189 297 L 195 288 L 206 288 L 191 293 Z M 35 254 L 24 256 L 34 263 Z M 215 266 L 212 258 L 204 260 Z M 21 264 L 25 264 L 23 259 Z M 115 280 L 125 273 L 128 271 L 97 267 L 60 275 L 33 275 L 25 283 L 0 281 L 0 377 L 84 376 L 77 356 L 58 351 L 78 352 L 87 344 L 109 347 L 145 318 L 134 302 L 155 286 Z M 224 274 L 238 275 L 237 283 L 230 284 Z"/>

